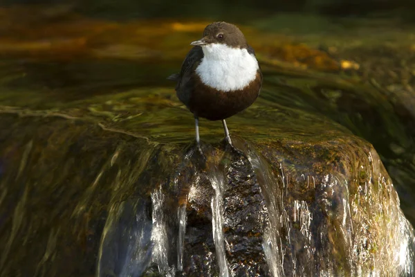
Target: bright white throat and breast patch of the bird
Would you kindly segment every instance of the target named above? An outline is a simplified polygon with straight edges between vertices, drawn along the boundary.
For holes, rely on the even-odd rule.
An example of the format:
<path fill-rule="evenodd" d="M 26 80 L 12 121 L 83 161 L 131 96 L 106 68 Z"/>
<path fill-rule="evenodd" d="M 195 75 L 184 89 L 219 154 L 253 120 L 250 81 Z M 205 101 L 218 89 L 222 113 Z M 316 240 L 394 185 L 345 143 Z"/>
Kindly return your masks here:
<path fill-rule="evenodd" d="M 258 62 L 246 48 L 209 44 L 202 49 L 204 57 L 196 73 L 203 84 L 219 91 L 236 91 L 255 80 Z"/>

